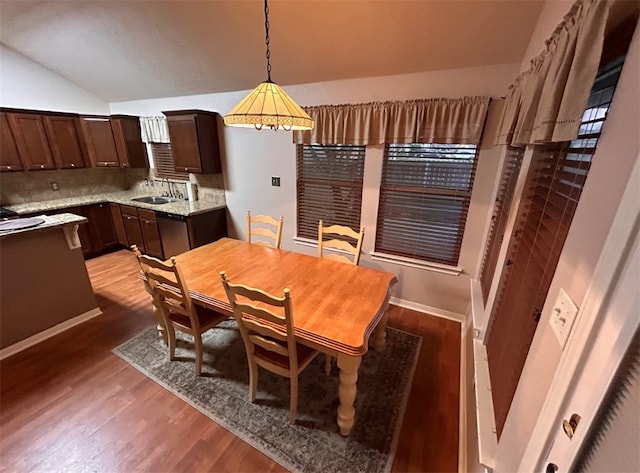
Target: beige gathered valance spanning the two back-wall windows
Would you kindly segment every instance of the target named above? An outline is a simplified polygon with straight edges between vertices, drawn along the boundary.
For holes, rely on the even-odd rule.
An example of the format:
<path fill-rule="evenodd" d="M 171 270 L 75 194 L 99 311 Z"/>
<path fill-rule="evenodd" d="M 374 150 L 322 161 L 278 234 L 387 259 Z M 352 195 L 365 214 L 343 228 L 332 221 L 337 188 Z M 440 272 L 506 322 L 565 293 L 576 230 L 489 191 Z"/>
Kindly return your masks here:
<path fill-rule="evenodd" d="M 489 97 L 303 107 L 313 130 L 296 131 L 297 144 L 478 144 Z"/>

